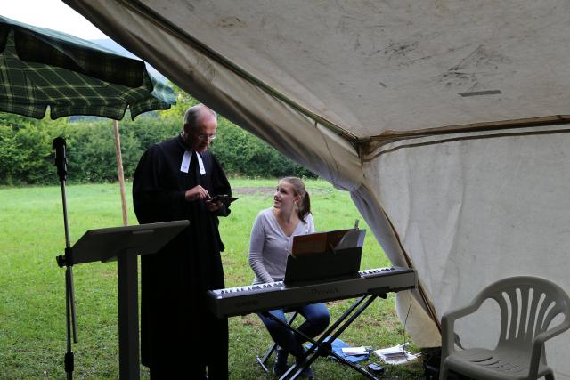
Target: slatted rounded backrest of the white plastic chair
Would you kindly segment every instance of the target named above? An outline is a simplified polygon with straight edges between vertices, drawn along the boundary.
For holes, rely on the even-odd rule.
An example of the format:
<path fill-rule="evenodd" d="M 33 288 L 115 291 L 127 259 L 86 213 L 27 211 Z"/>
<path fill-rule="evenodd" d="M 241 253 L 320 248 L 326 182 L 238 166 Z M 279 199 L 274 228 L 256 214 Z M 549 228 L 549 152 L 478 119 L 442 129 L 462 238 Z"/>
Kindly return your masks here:
<path fill-rule="evenodd" d="M 530 276 L 501 279 L 479 294 L 493 298 L 501 309 L 501 336 L 498 346 L 533 344 L 534 338 L 548 331 L 559 314 L 562 331 L 570 328 L 570 297 L 555 283 Z"/>

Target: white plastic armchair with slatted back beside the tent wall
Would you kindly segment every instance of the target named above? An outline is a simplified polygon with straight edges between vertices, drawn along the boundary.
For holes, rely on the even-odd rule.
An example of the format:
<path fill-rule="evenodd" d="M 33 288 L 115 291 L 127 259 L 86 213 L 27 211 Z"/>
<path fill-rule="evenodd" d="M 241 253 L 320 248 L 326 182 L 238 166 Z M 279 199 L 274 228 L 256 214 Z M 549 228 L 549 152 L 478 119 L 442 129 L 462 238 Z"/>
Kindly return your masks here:
<path fill-rule="evenodd" d="M 453 324 L 456 319 L 475 312 L 487 299 L 499 303 L 501 336 L 494 350 L 473 348 L 456 350 Z M 520 305 L 519 305 L 520 303 Z M 550 323 L 559 314 L 564 320 Z M 544 342 L 570 328 L 570 298 L 561 287 L 546 279 L 511 277 L 485 287 L 464 308 L 442 317 L 442 362 L 440 380 L 450 370 L 476 379 L 553 380 L 546 363 Z"/>

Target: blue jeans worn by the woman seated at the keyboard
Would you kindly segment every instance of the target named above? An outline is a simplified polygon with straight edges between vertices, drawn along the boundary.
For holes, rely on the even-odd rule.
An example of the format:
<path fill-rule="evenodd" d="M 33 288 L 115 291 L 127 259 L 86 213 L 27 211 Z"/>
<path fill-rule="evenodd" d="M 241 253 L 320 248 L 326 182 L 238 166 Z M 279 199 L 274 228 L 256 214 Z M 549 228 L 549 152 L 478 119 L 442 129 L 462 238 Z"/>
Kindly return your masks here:
<path fill-rule="evenodd" d="M 307 304 L 294 309 L 287 309 L 287 311 L 298 311 L 305 318 L 305 322 L 298 327 L 298 330 L 311 338 L 318 336 L 329 326 L 330 314 L 324 303 Z M 283 311 L 283 309 L 272 310 L 269 312 L 282 321 L 287 322 L 285 311 Z M 303 354 L 304 349 L 302 344 L 305 343 L 305 338 L 297 336 L 297 334 L 289 330 L 287 327 L 282 327 L 269 316 L 264 316 L 261 313 L 258 313 L 257 315 L 262 322 L 264 322 L 265 327 L 267 327 L 267 331 L 269 331 L 269 335 L 271 335 L 273 341 L 277 345 L 294 356 L 300 356 Z"/>

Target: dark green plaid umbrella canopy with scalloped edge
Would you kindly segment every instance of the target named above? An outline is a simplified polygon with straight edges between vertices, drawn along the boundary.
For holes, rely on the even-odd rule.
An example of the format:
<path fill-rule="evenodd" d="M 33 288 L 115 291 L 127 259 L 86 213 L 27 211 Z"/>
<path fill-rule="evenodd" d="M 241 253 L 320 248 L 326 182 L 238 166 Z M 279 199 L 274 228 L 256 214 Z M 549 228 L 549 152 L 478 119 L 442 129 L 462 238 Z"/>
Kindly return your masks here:
<path fill-rule="evenodd" d="M 119 120 L 130 109 L 169 109 L 175 93 L 143 61 L 97 44 L 0 16 L 0 111 L 43 118 Z"/>

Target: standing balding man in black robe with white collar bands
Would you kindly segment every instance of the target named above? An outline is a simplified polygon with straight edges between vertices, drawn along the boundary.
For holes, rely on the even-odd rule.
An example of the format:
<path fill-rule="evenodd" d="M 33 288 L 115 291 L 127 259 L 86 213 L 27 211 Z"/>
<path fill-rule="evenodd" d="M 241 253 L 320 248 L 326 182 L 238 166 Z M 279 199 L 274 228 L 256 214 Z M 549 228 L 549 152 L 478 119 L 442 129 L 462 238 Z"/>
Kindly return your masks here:
<path fill-rule="evenodd" d="M 218 216 L 231 195 L 222 166 L 208 150 L 216 113 L 199 104 L 186 111 L 183 132 L 147 150 L 134 173 L 134 212 L 140 223 L 189 220 L 166 247 L 141 256 L 142 364 L 155 379 L 228 376 L 227 319 L 206 307 L 208 289 L 224 287 Z M 182 347 L 180 349 L 179 347 Z"/>

